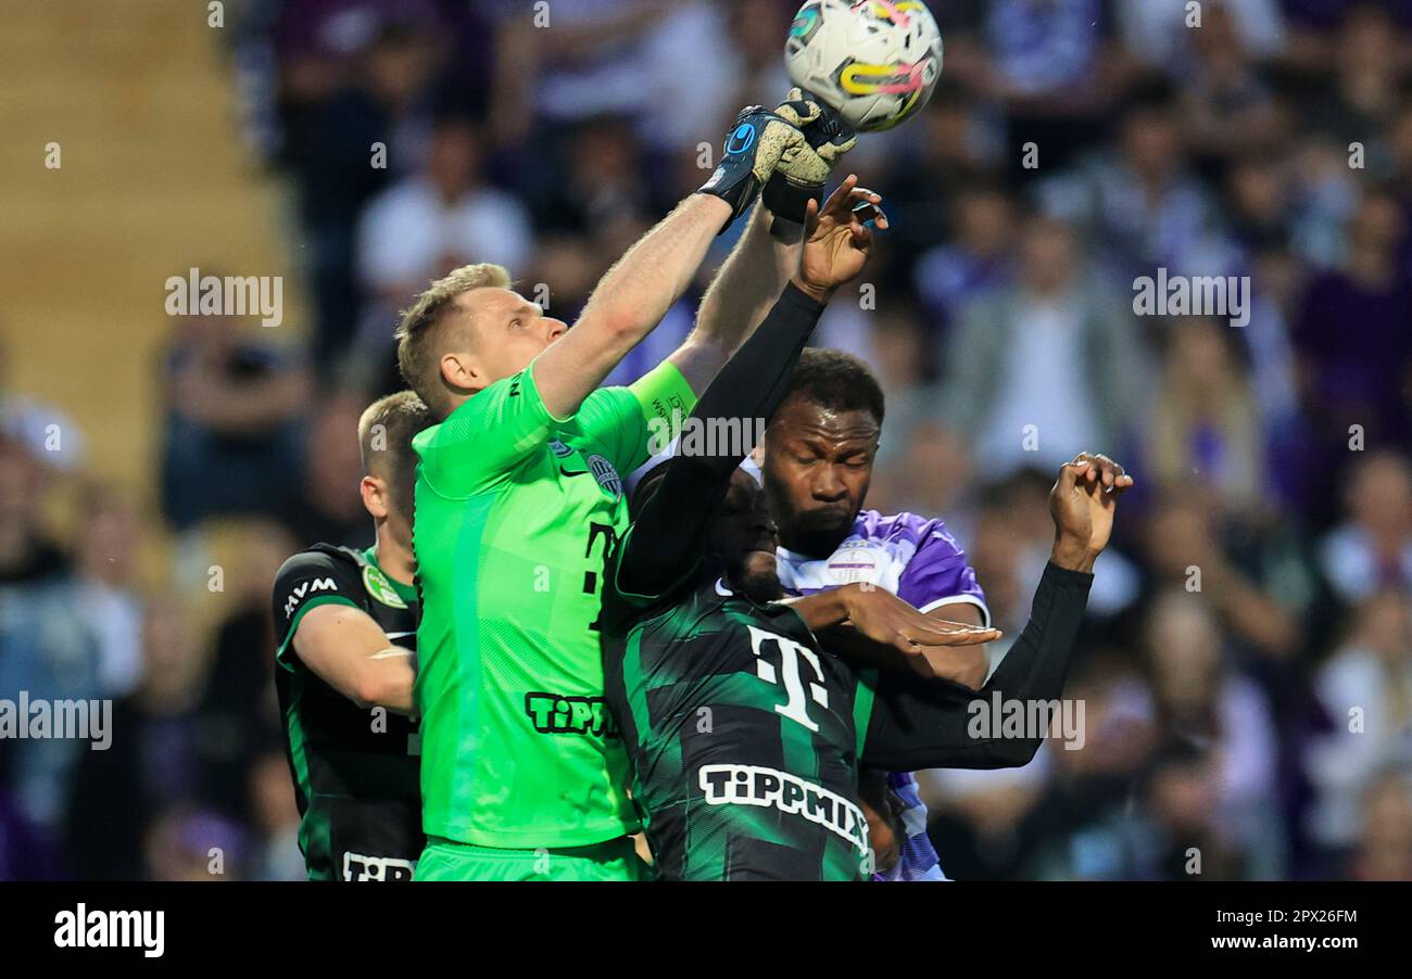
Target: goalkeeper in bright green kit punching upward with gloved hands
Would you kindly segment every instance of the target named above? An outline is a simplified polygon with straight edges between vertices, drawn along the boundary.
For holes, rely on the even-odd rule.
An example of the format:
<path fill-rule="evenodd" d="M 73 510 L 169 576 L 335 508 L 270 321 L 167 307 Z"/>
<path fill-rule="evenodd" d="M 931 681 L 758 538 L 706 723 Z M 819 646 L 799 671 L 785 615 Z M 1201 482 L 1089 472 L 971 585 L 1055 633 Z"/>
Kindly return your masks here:
<path fill-rule="evenodd" d="M 774 111 L 747 109 L 710 179 L 603 276 L 572 330 L 494 265 L 456 269 L 404 315 L 402 375 L 443 419 L 414 442 L 418 880 L 644 873 L 599 650 L 603 559 L 627 525 L 620 474 L 647 460 L 648 422 L 689 415 L 764 319 L 798 245 L 771 240 L 757 207 L 682 347 L 630 388 L 594 388 L 761 192 L 775 217 L 802 224 L 851 145 L 796 92 Z"/>

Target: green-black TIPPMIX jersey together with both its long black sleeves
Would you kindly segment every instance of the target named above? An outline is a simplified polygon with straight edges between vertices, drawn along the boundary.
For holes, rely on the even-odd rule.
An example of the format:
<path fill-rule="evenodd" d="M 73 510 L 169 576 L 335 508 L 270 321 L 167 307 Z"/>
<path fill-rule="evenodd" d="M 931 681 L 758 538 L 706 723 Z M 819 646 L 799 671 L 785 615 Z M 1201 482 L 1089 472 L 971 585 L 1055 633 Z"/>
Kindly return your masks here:
<path fill-rule="evenodd" d="M 690 420 L 770 419 L 820 310 L 786 288 Z M 679 451 L 648 475 L 610 552 L 604 693 L 633 801 L 664 879 L 856 880 L 873 869 L 860 759 L 895 772 L 1024 765 L 1042 734 L 974 729 L 977 694 L 856 669 L 788 605 L 731 594 L 713 530 L 729 537 L 740 521 L 729 488 L 748 447 L 737 449 Z M 1045 568 L 1029 624 L 979 697 L 1062 693 L 1090 581 Z"/>

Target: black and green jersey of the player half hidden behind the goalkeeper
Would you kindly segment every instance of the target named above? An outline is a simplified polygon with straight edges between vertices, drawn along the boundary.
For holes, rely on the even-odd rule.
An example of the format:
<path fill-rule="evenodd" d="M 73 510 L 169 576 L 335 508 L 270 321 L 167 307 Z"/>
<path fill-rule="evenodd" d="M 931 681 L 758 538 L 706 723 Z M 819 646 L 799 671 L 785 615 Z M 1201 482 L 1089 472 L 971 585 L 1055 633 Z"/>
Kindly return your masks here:
<path fill-rule="evenodd" d="M 275 690 L 299 849 L 311 880 L 409 880 L 425 842 L 417 724 L 360 708 L 299 659 L 299 622 L 330 602 L 367 612 L 391 642 L 417 647 L 417 592 L 383 574 L 373 549 L 316 545 L 275 576 Z"/>

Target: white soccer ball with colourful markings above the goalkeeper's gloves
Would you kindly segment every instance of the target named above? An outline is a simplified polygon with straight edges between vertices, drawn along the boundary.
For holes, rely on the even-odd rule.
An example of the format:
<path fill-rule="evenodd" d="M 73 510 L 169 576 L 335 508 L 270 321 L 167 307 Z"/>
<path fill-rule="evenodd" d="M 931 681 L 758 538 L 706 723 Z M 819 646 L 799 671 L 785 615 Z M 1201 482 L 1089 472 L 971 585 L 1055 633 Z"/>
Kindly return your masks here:
<path fill-rule="evenodd" d="M 892 128 L 926 104 L 942 73 L 942 32 L 919 0 L 809 0 L 785 41 L 789 78 L 860 133 Z"/>

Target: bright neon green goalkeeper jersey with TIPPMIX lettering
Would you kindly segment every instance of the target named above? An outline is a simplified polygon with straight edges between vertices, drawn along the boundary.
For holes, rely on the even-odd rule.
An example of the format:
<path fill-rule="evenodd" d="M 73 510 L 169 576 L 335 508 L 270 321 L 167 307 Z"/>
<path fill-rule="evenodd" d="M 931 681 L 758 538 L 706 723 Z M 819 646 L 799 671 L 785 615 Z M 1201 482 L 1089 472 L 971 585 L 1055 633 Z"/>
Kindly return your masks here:
<path fill-rule="evenodd" d="M 627 526 L 621 477 L 686 416 L 662 364 L 556 419 L 534 364 L 418 434 L 414 547 L 422 621 L 422 828 L 507 849 L 637 831 L 603 700 L 603 560 Z"/>

